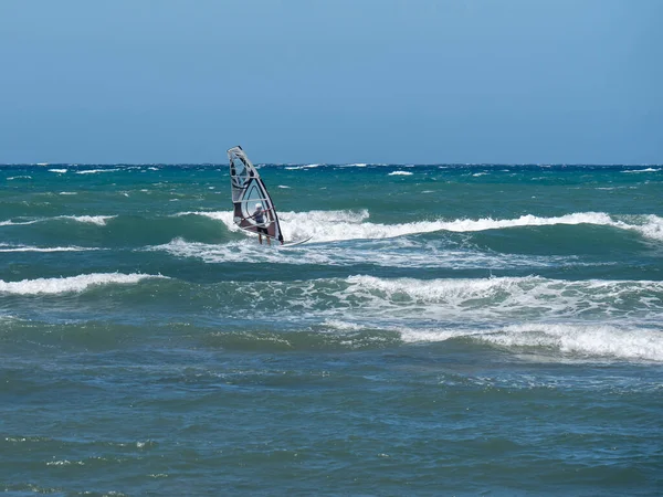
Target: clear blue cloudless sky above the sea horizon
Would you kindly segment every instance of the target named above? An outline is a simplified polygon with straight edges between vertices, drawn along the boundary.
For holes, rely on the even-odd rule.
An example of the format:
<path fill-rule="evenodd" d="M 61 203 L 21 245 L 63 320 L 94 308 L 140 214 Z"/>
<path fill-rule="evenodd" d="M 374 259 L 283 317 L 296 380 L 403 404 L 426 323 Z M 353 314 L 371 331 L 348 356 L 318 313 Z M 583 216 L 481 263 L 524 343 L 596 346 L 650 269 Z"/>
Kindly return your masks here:
<path fill-rule="evenodd" d="M 663 163 L 661 0 L 0 0 L 0 163 Z"/>

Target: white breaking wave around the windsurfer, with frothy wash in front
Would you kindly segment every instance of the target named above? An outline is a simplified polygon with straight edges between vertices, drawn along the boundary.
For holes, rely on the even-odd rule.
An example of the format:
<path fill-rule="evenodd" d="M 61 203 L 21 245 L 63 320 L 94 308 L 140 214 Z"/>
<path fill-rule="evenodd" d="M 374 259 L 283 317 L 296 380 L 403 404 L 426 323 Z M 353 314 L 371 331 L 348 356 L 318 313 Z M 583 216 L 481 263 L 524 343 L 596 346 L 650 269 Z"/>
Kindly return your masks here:
<path fill-rule="evenodd" d="M 556 224 L 592 223 L 636 231 L 648 239 L 663 240 L 663 219 L 656 215 L 623 216 L 615 220 L 604 213 L 577 213 L 558 218 L 524 215 L 512 220 L 455 220 L 420 221 L 401 224 L 369 222 L 367 210 L 360 211 L 308 211 L 283 212 L 281 228 L 286 241 L 312 237 L 307 245 L 296 251 L 261 250 L 252 235 L 239 229 L 229 211 L 180 212 L 173 214 L 201 215 L 222 222 L 231 233 L 244 234 L 251 243 L 230 241 L 225 244 L 209 244 L 175 237 L 169 243 L 147 250 L 166 251 L 176 256 L 198 257 L 208 263 L 251 261 L 254 263 L 274 262 L 278 264 L 324 264 L 351 265 L 371 264 L 391 267 L 454 267 L 454 268 L 506 268 L 506 267 L 550 267 L 583 265 L 581 258 L 569 255 L 508 254 L 464 244 L 457 246 L 452 241 L 442 243 L 439 239 L 413 241 L 408 235 L 451 231 L 457 233 L 478 232 L 496 229 L 512 229 Z M 386 240 L 389 239 L 389 242 Z M 398 240 L 394 240 L 398 239 Z M 380 243 L 385 240 L 385 243 Z M 357 241 L 336 244 L 325 242 Z M 366 242 L 361 242 L 366 241 Z M 442 245 L 441 245 L 442 243 Z M 264 248 L 264 247 L 263 247 Z"/>

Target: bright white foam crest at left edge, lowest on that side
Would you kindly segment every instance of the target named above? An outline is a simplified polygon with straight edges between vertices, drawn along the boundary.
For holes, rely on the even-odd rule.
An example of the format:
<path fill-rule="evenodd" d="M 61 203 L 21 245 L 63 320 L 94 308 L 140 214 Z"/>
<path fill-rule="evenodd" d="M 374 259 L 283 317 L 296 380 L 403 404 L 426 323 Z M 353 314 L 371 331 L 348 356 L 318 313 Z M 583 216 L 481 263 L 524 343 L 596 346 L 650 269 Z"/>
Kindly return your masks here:
<path fill-rule="evenodd" d="M 120 284 L 131 285 L 147 278 L 164 278 L 148 274 L 94 273 L 61 278 L 23 279 L 21 282 L 0 281 L 0 293 L 12 295 L 54 295 L 81 293 L 91 286 Z"/>

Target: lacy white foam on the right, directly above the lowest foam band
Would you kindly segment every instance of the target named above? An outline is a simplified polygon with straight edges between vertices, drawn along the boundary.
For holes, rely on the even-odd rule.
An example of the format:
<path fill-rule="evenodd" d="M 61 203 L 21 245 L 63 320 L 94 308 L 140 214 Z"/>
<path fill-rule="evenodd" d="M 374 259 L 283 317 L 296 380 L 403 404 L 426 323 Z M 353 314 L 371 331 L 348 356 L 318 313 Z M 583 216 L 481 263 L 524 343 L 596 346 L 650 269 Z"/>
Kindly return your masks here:
<path fill-rule="evenodd" d="M 663 319 L 663 282 L 568 282 L 538 276 L 482 279 L 412 279 L 350 276 L 343 294 L 375 309 L 430 319 L 482 322 L 546 319 Z"/>

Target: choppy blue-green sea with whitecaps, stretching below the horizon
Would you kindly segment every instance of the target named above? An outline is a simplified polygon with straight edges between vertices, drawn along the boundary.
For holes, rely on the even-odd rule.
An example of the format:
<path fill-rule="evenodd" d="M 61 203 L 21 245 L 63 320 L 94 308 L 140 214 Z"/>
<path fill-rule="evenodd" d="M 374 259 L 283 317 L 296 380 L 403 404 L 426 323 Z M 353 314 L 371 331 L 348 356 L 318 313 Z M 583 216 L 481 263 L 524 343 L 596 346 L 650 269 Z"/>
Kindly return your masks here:
<path fill-rule="evenodd" d="M 660 496 L 663 166 L 0 166 L 8 496 Z"/>

